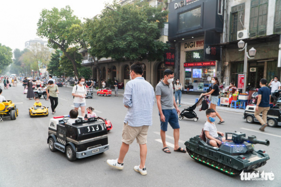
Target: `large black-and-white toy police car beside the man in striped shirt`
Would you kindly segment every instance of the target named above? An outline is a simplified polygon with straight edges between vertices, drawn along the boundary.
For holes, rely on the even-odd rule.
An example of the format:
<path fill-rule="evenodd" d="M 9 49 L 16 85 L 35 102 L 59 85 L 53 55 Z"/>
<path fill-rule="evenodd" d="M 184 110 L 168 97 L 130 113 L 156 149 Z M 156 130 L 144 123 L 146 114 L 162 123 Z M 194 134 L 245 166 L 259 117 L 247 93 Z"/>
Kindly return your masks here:
<path fill-rule="evenodd" d="M 93 156 L 109 149 L 108 131 L 105 121 L 78 116 L 74 124 L 66 124 L 68 115 L 50 119 L 47 143 L 52 152 L 59 150 L 69 161 Z"/>

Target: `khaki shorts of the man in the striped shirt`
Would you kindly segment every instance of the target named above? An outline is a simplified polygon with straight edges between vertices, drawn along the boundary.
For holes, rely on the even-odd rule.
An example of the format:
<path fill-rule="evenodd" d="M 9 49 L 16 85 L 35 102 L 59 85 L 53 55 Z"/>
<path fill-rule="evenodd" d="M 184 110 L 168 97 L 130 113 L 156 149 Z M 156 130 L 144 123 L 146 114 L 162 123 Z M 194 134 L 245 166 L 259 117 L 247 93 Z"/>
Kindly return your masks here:
<path fill-rule="evenodd" d="M 128 123 L 124 123 L 123 131 L 122 131 L 122 141 L 125 144 L 132 144 L 135 139 L 137 139 L 137 143 L 146 144 L 147 143 L 147 125 L 132 127 L 129 126 Z"/>

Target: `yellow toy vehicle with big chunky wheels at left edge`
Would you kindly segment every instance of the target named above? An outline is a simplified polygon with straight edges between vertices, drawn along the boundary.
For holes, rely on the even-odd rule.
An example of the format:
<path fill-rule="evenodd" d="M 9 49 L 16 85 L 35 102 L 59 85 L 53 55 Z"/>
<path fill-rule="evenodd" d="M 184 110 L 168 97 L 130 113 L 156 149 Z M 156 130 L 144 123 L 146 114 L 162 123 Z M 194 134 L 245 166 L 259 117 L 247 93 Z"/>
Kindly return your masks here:
<path fill-rule="evenodd" d="M 18 109 L 12 101 L 7 100 L 0 103 L 0 122 L 3 122 L 3 117 L 10 117 L 11 120 L 16 120 L 17 116 Z"/>

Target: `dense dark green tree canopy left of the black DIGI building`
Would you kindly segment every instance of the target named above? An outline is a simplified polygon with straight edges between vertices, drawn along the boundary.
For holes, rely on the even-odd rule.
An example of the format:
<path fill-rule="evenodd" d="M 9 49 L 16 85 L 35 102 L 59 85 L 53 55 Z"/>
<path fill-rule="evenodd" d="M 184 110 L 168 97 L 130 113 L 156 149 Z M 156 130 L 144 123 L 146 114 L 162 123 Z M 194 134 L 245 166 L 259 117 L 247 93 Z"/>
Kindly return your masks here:
<path fill-rule="evenodd" d="M 114 1 L 110 7 L 117 12 L 104 9 L 100 18 L 87 19 L 85 23 L 90 54 L 117 61 L 161 61 L 169 48 L 158 40 L 168 12 L 144 1 L 123 6 Z"/>

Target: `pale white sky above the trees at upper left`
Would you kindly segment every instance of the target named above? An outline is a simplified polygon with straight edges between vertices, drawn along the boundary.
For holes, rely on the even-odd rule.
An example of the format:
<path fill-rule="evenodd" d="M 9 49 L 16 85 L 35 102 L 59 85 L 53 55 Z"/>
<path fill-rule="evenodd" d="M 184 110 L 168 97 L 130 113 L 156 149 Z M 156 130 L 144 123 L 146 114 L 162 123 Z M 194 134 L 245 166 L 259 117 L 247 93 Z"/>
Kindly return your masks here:
<path fill-rule="evenodd" d="M 39 38 L 37 22 L 43 9 L 69 5 L 80 20 L 100 14 L 113 0 L 0 0 L 0 44 L 24 49 L 25 42 Z M 47 39 L 45 39 L 47 40 Z"/>

